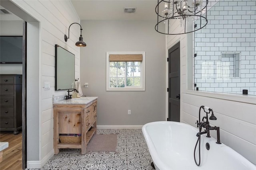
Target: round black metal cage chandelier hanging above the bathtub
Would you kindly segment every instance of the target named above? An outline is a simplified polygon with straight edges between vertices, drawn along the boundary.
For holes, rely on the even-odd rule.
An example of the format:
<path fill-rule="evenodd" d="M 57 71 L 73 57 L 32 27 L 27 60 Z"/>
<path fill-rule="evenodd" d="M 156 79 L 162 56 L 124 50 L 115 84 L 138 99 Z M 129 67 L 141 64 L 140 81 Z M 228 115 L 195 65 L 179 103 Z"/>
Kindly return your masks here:
<path fill-rule="evenodd" d="M 205 2 L 203 0 L 158 0 L 158 4 L 156 5 L 156 31 L 166 35 L 179 35 L 202 29 L 208 23 L 207 4 L 208 0 Z M 184 24 L 184 32 L 175 33 L 173 30 L 171 31 L 171 20 L 180 20 L 180 26 Z M 186 22 L 194 22 L 195 20 L 199 23 L 194 24 L 194 29 L 192 31 L 188 30 L 186 28 Z M 160 27 L 160 24 L 163 24 L 164 26 Z"/>

